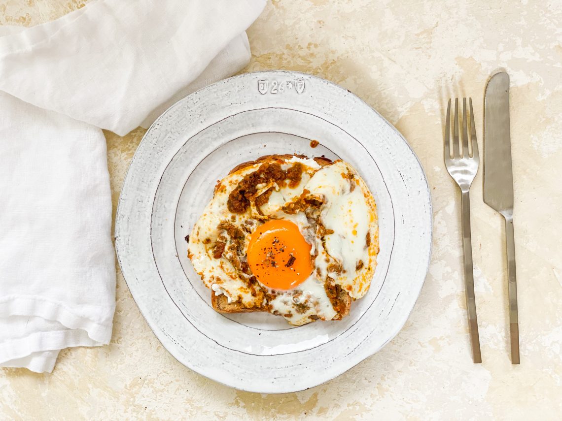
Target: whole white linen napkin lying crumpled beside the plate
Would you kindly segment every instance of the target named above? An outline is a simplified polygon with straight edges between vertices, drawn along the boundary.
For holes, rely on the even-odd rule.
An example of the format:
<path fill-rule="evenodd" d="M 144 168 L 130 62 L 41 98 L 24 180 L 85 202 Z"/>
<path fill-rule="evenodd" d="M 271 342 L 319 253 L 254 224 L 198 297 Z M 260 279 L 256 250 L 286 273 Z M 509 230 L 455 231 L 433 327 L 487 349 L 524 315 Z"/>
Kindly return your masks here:
<path fill-rule="evenodd" d="M 0 366 L 50 372 L 111 339 L 115 255 L 102 131 L 148 126 L 250 59 L 265 0 L 93 0 L 0 27 Z"/>

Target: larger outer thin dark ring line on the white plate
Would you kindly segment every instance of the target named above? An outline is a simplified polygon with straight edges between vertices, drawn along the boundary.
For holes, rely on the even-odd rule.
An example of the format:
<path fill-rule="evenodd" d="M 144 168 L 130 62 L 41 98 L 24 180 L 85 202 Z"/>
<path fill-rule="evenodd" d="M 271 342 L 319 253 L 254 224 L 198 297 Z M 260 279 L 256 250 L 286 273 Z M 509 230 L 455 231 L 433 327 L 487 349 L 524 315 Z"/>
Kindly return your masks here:
<path fill-rule="evenodd" d="M 226 120 L 227 118 L 233 117 L 233 116 L 235 116 L 235 115 L 238 115 L 238 114 L 241 114 L 241 113 L 244 113 L 244 112 L 256 111 L 256 110 L 261 110 L 261 109 L 287 109 L 287 110 L 289 110 L 289 111 L 296 111 L 296 112 L 300 112 L 300 113 L 303 113 L 303 114 L 310 115 L 310 116 L 312 116 L 312 117 L 320 118 L 320 120 L 324 120 L 325 122 L 329 123 L 330 125 L 337 127 L 339 130 L 343 131 L 343 132 L 346 133 L 348 136 L 350 136 L 350 138 L 352 138 L 352 139 L 355 140 L 357 143 L 359 143 L 359 144 L 361 145 L 361 147 L 362 147 L 363 149 L 365 149 L 365 152 L 369 154 L 369 157 L 371 157 L 371 159 L 372 159 L 373 162 L 375 163 L 375 166 L 377 167 L 377 170 L 378 170 L 379 173 L 380 173 L 380 177 L 381 177 L 381 179 L 382 179 L 382 181 L 383 181 L 384 186 L 385 186 L 386 189 L 387 189 L 388 197 L 389 197 L 390 202 L 391 202 L 392 216 L 395 218 L 395 221 L 396 221 L 396 215 L 395 215 L 395 211 L 394 211 L 394 204 L 393 204 L 393 202 L 392 202 L 392 195 L 390 194 L 390 191 L 388 190 L 388 185 L 386 184 L 386 180 L 384 180 L 384 177 L 383 177 L 383 175 L 382 175 L 382 172 L 380 172 L 380 168 L 379 168 L 377 162 L 375 161 L 375 159 L 373 158 L 373 155 L 371 155 L 371 153 L 369 152 L 369 150 L 368 150 L 367 148 L 365 148 L 365 145 L 364 145 L 364 144 L 362 144 L 362 143 L 361 143 L 359 140 L 357 140 L 354 136 L 352 136 L 351 134 L 349 134 L 346 130 L 344 130 L 344 129 L 342 129 L 341 127 L 335 125 L 334 123 L 332 123 L 332 122 L 326 120 L 325 118 L 322 118 L 322 117 L 320 117 L 320 116 L 316 116 L 316 115 L 314 115 L 314 114 L 312 114 L 312 113 L 307 113 L 307 112 L 305 112 L 305 111 L 300 111 L 300 110 L 297 110 L 297 109 L 285 108 L 285 107 L 265 107 L 265 108 L 247 109 L 247 110 L 244 110 L 244 111 L 241 111 L 241 112 L 238 112 L 238 113 L 234 113 L 233 115 L 230 115 L 230 116 L 221 118 L 219 121 L 216 121 L 216 122 L 210 124 L 209 126 L 207 126 L 207 127 L 205 127 L 204 129 L 198 131 L 196 134 L 194 134 L 194 135 L 191 136 L 189 139 L 187 139 L 187 140 L 185 141 L 184 145 L 187 144 L 187 143 L 189 142 L 189 140 L 191 140 L 192 138 L 194 138 L 196 135 L 200 134 L 202 131 L 208 129 L 208 128 L 211 127 L 211 126 L 214 126 L 215 124 L 217 124 L 217 123 L 219 123 L 219 122 L 221 122 L 221 121 Z M 242 136 L 240 136 L 240 137 L 242 137 Z M 215 149 L 215 150 L 216 150 L 216 149 Z M 177 154 L 178 154 L 178 152 L 176 152 L 176 153 L 174 154 L 174 156 L 170 159 L 170 161 L 166 164 L 166 167 L 164 168 L 164 171 L 162 172 L 162 175 L 160 176 L 160 180 L 158 180 L 158 186 L 156 187 L 156 191 L 155 191 L 154 195 L 152 196 L 152 212 L 151 212 L 151 220 L 150 220 L 150 248 L 151 248 L 152 258 L 153 258 L 153 260 L 154 260 L 154 264 L 155 264 L 155 267 L 156 267 L 156 272 L 158 273 L 158 277 L 160 277 L 160 282 L 162 283 L 162 286 L 164 286 L 164 290 L 166 291 L 166 294 L 170 297 L 170 300 L 172 301 L 172 303 L 174 303 L 174 305 L 176 306 L 176 308 L 178 308 L 179 312 L 182 313 L 182 315 L 183 315 L 183 317 L 185 318 L 185 320 L 187 320 L 187 322 L 188 322 L 189 324 L 191 324 L 191 326 L 193 326 L 193 328 L 194 328 L 197 332 L 201 333 L 201 335 L 205 336 L 207 339 L 209 339 L 209 340 L 215 342 L 215 344 L 219 345 L 220 347 L 223 347 L 224 349 L 228 349 L 228 350 L 233 351 L 233 352 L 236 352 L 236 353 L 241 353 L 241 354 L 246 354 L 246 355 L 253 355 L 253 356 L 262 356 L 262 357 L 263 357 L 263 356 L 265 356 L 265 357 L 270 357 L 270 356 L 278 356 L 278 355 L 297 354 L 297 353 L 301 353 L 301 352 L 304 352 L 304 351 L 310 351 L 310 350 L 312 350 L 312 349 L 315 349 L 315 348 L 318 348 L 318 347 L 320 347 L 320 346 L 329 344 L 330 342 L 336 340 L 339 336 L 342 336 L 344 333 L 348 332 L 353 326 L 355 326 L 355 325 L 357 324 L 357 322 L 359 322 L 359 321 L 361 320 L 361 318 L 365 315 L 365 313 L 369 311 L 369 309 L 371 308 L 371 306 L 373 305 L 373 303 L 374 303 L 375 300 L 377 299 L 377 297 L 378 297 L 378 295 L 379 295 L 379 293 L 380 293 L 380 290 L 382 290 L 382 287 L 384 286 L 384 282 L 386 281 L 386 277 L 387 277 L 387 274 L 388 274 L 388 270 L 389 270 L 389 268 L 390 268 L 390 266 L 391 266 L 392 251 L 394 250 L 394 244 L 395 244 L 394 239 L 395 239 L 395 236 L 396 236 L 396 223 L 393 223 L 393 226 L 392 226 L 392 229 L 393 229 L 392 247 L 391 247 L 391 251 L 390 251 L 389 257 L 388 257 L 388 267 L 387 267 L 387 271 L 386 271 L 386 273 L 384 274 L 383 282 L 380 284 L 380 289 L 379 289 L 379 291 L 377 292 L 377 295 L 375 295 L 375 298 L 373 299 L 373 301 L 371 301 L 371 304 L 369 304 L 369 306 L 368 306 L 368 308 L 365 310 L 365 312 L 364 312 L 363 314 L 361 314 L 361 316 L 360 316 L 359 318 L 357 318 L 357 320 L 355 321 L 355 323 L 353 323 L 350 327 L 348 327 L 347 330 L 345 330 L 345 331 L 339 333 L 339 335 L 334 336 L 333 338 L 331 338 L 329 341 L 324 342 L 323 344 L 320 344 L 320 345 L 313 346 L 313 347 L 311 347 L 311 348 L 309 348 L 309 349 L 306 349 L 306 350 L 293 351 L 293 352 L 291 352 L 291 353 L 282 353 L 282 354 L 273 354 L 273 355 L 262 355 L 262 354 L 247 353 L 247 352 L 244 352 L 244 351 L 239 351 L 239 350 L 235 350 L 235 349 L 229 348 L 228 346 L 221 345 L 221 344 L 219 344 L 219 342 L 215 341 L 214 339 L 212 339 L 212 338 L 210 338 L 209 336 L 205 335 L 205 333 L 201 332 L 201 331 L 185 316 L 185 314 L 182 312 L 182 309 L 179 308 L 178 304 L 176 304 L 176 302 L 174 301 L 174 299 L 171 297 L 170 292 L 167 290 L 166 285 L 165 285 L 165 283 L 164 283 L 164 280 L 162 280 L 162 275 L 161 275 L 161 273 L 160 273 L 160 269 L 158 268 L 158 264 L 156 263 L 156 256 L 155 256 L 155 254 L 154 254 L 154 246 L 153 246 L 153 242 L 152 242 L 152 214 L 154 214 L 154 205 L 155 205 L 156 194 L 158 193 L 158 189 L 160 188 L 160 185 L 161 185 L 161 182 L 162 182 L 162 177 L 164 176 L 164 174 L 165 174 L 167 168 L 170 166 L 170 163 L 174 160 L 174 157 L 175 157 Z M 208 155 L 207 155 L 207 156 L 208 156 Z M 203 158 L 203 159 L 204 159 L 204 158 Z M 175 224 L 174 224 L 174 225 L 175 225 Z M 174 239 L 175 239 L 175 235 L 174 235 Z M 179 258 L 178 258 L 178 259 L 179 259 Z M 180 262 L 180 264 L 181 264 L 181 262 Z M 191 284 L 191 281 L 189 281 L 189 283 Z M 192 286 L 192 288 L 193 288 L 193 284 L 191 284 L 191 286 Z M 201 296 L 200 296 L 200 297 L 201 297 Z M 398 298 L 398 296 L 396 296 L 395 301 L 396 301 L 397 298 Z M 228 320 L 230 320 L 230 319 L 228 319 Z M 242 325 L 242 326 L 246 326 L 246 325 Z M 246 327 L 249 327 L 249 326 L 246 326 Z M 372 333 L 373 333 L 373 331 L 371 331 L 371 333 L 369 333 L 369 335 L 367 335 L 366 337 L 369 337 Z M 359 345 L 361 345 L 364 341 L 365 341 L 365 340 L 361 341 L 361 343 L 360 343 Z M 357 345 L 357 346 L 359 346 L 359 345 Z"/>

